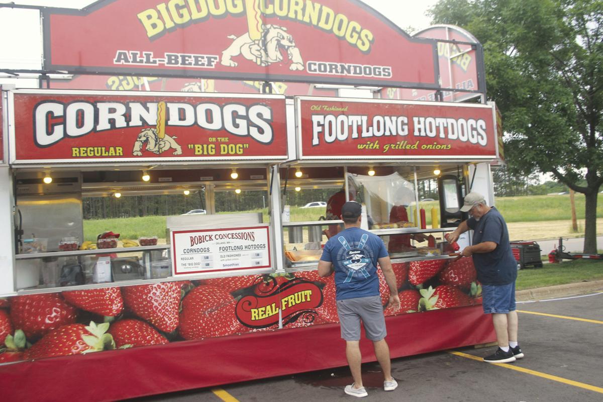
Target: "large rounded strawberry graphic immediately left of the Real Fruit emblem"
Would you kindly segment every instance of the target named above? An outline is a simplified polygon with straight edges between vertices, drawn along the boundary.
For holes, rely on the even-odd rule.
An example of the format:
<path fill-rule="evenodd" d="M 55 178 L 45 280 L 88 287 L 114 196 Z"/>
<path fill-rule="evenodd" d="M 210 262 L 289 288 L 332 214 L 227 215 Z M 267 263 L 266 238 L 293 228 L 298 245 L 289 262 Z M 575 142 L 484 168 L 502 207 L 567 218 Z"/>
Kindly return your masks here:
<path fill-rule="evenodd" d="M 235 299 L 224 289 L 206 285 L 195 287 L 182 300 L 180 336 L 200 339 L 243 331 L 235 307 Z"/>

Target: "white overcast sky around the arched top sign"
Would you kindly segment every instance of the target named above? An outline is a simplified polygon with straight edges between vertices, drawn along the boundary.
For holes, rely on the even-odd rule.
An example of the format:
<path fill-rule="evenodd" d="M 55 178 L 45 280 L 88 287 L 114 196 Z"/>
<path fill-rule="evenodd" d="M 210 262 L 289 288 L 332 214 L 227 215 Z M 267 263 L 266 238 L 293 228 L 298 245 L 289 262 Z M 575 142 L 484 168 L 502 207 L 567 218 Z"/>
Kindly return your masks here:
<path fill-rule="evenodd" d="M 83 8 L 93 0 L 0 0 L 0 4 L 27 4 L 45 7 Z M 400 28 L 421 30 L 429 27 L 425 11 L 437 0 L 364 0 Z M 0 69 L 42 68 L 42 39 L 37 10 L 0 8 Z"/>

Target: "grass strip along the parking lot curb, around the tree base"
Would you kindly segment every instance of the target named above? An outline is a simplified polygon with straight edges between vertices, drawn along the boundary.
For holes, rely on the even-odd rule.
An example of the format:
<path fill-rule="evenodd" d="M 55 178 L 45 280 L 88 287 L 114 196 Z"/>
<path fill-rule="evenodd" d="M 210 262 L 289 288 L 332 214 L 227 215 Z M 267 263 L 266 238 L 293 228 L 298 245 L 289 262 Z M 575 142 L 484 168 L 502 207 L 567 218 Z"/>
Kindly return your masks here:
<path fill-rule="evenodd" d="M 543 268 L 521 269 L 517 272 L 516 289 L 575 283 L 603 279 L 603 261 L 565 260 L 557 264 L 545 264 Z"/>

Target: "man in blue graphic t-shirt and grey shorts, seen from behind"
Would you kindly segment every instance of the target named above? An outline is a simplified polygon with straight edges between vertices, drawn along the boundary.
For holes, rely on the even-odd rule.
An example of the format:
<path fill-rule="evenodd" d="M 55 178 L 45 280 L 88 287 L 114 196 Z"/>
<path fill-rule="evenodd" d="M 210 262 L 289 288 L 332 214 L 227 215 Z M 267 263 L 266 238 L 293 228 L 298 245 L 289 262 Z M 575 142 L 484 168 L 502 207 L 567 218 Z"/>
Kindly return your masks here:
<path fill-rule="evenodd" d="M 367 338 L 373 341 L 377 361 L 384 374 L 384 390 L 393 391 L 398 386 L 391 376 L 390 348 L 385 342 L 384 306 L 379 295 L 377 262 L 390 287 L 390 305 L 400 309 L 396 276 L 391 268 L 390 256 L 379 236 L 360 228 L 362 206 L 348 201 L 341 207 L 345 230 L 335 234 L 324 245 L 318 262 L 318 274 L 326 277 L 335 272 L 337 315 L 341 325 L 341 338 L 346 340 L 346 357 L 354 383 L 345 388 L 348 395 L 367 396 L 362 386 L 360 353 L 360 322 L 364 324 Z"/>

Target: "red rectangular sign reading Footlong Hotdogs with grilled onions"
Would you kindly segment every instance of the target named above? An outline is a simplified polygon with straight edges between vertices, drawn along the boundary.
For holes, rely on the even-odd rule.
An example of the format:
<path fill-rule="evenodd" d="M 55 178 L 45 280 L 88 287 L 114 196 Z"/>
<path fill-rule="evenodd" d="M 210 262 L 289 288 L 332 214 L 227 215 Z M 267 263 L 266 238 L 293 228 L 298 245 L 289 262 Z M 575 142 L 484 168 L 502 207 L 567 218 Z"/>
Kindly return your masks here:
<path fill-rule="evenodd" d="M 491 105 L 296 99 L 301 159 L 496 158 Z"/>

